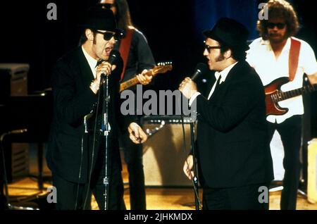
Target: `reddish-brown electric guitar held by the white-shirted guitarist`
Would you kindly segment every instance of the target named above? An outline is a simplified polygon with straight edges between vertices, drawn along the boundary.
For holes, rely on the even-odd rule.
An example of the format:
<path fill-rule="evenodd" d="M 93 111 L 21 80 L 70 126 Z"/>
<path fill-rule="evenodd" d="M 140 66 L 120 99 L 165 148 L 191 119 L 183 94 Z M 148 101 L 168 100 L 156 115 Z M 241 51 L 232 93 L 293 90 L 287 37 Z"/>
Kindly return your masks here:
<path fill-rule="evenodd" d="M 308 77 L 306 77 L 306 79 L 308 79 Z M 280 87 L 289 81 L 288 77 L 280 77 L 264 87 L 266 94 L 266 116 L 283 115 L 287 113 L 288 108 L 280 107 L 278 105 L 279 101 L 317 90 L 317 85 L 304 85 L 304 87 L 299 89 L 282 92 Z"/>

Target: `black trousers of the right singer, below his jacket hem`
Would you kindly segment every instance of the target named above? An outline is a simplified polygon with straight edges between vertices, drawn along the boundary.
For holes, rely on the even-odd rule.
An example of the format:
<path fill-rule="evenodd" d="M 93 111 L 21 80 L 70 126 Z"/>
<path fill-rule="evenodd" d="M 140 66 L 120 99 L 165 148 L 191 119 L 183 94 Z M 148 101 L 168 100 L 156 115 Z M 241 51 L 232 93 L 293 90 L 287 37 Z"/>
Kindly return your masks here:
<path fill-rule="evenodd" d="M 266 187 L 267 194 L 262 197 Z M 268 210 L 268 183 L 230 188 L 204 188 L 203 210 Z M 265 199 L 267 201 L 261 201 Z"/>

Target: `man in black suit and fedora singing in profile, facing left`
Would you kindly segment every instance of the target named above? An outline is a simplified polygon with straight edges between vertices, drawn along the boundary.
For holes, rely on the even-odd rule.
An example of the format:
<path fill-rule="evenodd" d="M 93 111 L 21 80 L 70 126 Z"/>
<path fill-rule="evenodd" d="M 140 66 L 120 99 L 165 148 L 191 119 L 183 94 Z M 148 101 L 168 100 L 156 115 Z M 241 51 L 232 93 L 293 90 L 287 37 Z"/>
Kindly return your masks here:
<path fill-rule="evenodd" d="M 260 194 L 261 186 L 273 180 L 273 166 L 263 85 L 245 61 L 249 32 L 241 23 L 222 18 L 204 35 L 204 56 L 216 71 L 216 82 L 208 97 L 197 92 L 189 77 L 180 85 L 189 105 L 197 106 L 203 209 L 268 209 L 268 195 Z M 189 155 L 184 165 L 189 179 L 192 168 Z"/>

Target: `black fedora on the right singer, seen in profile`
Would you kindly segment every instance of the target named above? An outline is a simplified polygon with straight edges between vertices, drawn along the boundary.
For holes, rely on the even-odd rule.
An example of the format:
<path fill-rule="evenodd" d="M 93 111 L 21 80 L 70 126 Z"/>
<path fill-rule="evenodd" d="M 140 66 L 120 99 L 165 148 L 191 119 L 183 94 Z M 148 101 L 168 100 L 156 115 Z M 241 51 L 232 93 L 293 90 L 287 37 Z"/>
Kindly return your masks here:
<path fill-rule="evenodd" d="M 206 30 L 203 33 L 206 37 L 215 39 L 229 48 L 245 51 L 249 49 L 247 44 L 249 31 L 247 27 L 231 18 L 220 18 L 212 30 Z"/>

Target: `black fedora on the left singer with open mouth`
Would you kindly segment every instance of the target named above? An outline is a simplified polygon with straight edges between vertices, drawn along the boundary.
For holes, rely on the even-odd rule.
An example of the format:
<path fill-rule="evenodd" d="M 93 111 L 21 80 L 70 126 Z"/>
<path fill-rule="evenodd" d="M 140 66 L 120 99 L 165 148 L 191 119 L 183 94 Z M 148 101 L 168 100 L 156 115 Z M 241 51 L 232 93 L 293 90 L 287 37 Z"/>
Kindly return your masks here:
<path fill-rule="evenodd" d="M 116 18 L 113 12 L 108 8 L 100 6 L 92 6 L 87 10 L 85 16 L 80 22 L 80 27 L 89 28 L 92 30 L 108 30 L 116 32 Z"/>

